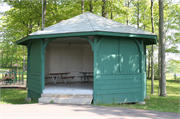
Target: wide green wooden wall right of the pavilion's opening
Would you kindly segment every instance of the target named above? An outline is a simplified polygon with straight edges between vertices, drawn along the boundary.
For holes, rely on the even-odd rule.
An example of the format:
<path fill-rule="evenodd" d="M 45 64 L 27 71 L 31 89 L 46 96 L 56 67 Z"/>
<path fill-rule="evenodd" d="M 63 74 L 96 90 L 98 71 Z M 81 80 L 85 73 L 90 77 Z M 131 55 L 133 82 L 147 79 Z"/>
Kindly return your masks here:
<path fill-rule="evenodd" d="M 99 40 L 100 41 L 100 40 Z M 140 102 L 146 96 L 144 45 L 137 39 L 104 37 L 94 42 L 94 103 Z"/>

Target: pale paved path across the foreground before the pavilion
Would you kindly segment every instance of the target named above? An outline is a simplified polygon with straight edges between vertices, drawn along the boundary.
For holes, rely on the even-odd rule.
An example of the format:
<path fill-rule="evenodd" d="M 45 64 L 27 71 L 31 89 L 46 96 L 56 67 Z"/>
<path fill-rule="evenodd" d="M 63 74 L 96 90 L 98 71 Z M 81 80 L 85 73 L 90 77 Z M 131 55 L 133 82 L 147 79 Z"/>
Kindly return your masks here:
<path fill-rule="evenodd" d="M 179 113 L 68 104 L 1 104 L 1 119 L 179 119 Z M 2 111 L 1 111 L 2 109 Z"/>

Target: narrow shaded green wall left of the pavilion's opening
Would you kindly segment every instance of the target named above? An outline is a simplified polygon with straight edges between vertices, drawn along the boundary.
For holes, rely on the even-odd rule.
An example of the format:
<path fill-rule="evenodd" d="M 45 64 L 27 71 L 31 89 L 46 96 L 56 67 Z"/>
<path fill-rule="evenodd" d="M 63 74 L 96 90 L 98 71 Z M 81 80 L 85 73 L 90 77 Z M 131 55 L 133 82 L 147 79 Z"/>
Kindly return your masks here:
<path fill-rule="evenodd" d="M 38 99 L 42 93 L 42 40 L 31 43 L 28 48 L 27 86 L 28 97 Z"/>

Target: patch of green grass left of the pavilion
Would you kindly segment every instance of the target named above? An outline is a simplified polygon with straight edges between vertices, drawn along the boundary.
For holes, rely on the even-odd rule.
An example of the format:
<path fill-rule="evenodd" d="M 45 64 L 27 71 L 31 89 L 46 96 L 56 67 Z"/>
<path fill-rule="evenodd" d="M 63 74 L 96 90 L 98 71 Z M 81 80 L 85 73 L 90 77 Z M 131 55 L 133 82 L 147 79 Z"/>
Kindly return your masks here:
<path fill-rule="evenodd" d="M 0 103 L 1 104 L 29 104 L 38 103 L 37 100 L 25 102 L 27 91 L 23 89 L 2 89 L 0 90 Z"/>

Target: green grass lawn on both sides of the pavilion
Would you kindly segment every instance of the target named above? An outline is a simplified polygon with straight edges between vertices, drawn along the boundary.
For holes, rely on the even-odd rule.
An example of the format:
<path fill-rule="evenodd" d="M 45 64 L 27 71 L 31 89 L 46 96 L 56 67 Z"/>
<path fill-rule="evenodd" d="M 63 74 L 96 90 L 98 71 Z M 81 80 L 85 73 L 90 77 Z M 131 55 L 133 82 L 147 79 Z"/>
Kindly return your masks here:
<path fill-rule="evenodd" d="M 167 74 L 166 91 L 167 97 L 160 97 L 158 95 L 159 80 L 154 81 L 154 94 L 151 94 L 151 80 L 147 79 L 147 95 L 150 99 L 145 99 L 146 104 L 99 104 L 98 106 L 106 107 L 123 107 L 123 108 L 135 108 L 144 110 L 154 110 L 162 112 L 180 113 L 180 83 L 179 77 L 175 81 L 172 74 Z M 1 104 L 32 104 L 38 103 L 37 100 L 31 102 L 25 102 L 27 97 L 27 91 L 22 89 L 1 89 L 0 91 L 0 103 Z"/>

